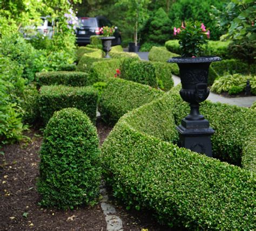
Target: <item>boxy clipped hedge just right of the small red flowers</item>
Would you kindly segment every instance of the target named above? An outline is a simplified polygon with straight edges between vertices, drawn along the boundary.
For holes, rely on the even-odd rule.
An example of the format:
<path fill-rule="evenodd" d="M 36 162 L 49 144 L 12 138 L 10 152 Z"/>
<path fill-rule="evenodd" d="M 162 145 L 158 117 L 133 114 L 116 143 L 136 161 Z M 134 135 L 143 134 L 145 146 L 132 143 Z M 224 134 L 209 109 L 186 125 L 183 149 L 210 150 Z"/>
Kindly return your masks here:
<path fill-rule="evenodd" d="M 163 90 L 170 90 L 173 87 L 173 68 L 167 63 L 125 59 L 120 71 L 122 79 Z"/>

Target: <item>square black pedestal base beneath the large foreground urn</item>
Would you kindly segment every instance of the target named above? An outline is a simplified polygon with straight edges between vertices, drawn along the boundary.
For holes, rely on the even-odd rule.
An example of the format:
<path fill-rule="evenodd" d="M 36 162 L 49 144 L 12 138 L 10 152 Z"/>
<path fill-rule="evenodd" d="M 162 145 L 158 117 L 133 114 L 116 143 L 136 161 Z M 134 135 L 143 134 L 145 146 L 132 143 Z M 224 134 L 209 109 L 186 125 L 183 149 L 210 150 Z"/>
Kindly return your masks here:
<path fill-rule="evenodd" d="M 183 118 L 176 127 L 179 132 L 179 146 L 212 157 L 211 135 L 214 130 L 207 120 L 190 121 Z"/>

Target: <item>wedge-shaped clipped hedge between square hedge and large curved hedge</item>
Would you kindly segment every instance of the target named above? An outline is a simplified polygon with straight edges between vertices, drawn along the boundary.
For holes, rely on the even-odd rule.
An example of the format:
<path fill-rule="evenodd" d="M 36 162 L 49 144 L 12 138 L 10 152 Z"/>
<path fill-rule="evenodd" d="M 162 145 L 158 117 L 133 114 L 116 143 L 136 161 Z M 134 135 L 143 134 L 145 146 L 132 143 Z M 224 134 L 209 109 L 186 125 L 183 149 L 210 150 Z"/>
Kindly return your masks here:
<path fill-rule="evenodd" d="M 157 99 L 163 94 L 150 86 L 113 78 L 109 79 L 104 87 L 98 109 L 104 121 L 114 124 L 127 111 Z"/>

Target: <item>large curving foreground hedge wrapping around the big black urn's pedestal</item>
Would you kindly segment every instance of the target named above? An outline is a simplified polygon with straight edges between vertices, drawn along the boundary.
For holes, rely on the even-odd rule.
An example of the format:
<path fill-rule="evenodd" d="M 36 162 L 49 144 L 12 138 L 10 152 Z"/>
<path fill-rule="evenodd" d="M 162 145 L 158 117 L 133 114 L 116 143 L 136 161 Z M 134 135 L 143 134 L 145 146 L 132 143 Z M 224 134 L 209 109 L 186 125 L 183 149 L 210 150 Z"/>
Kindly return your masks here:
<path fill-rule="evenodd" d="M 107 137 L 102 159 L 113 194 L 170 227 L 254 230 L 255 175 L 173 144 L 175 125 L 189 111 L 177 92 L 127 113 Z M 255 128 L 255 111 L 205 102 L 201 113 L 215 130 L 215 157 L 241 160 L 237 154 Z"/>

